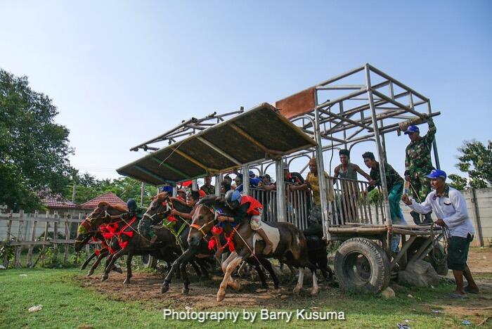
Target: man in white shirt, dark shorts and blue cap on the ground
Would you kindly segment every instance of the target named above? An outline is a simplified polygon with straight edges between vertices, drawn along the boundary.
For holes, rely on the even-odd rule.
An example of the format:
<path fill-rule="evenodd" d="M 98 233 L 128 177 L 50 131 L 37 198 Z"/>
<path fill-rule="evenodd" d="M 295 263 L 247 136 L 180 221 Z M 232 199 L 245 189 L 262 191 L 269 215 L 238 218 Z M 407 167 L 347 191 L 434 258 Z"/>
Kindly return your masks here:
<path fill-rule="evenodd" d="M 468 248 L 473 240 L 474 228 L 468 216 L 465 198 L 460 191 L 445 183 L 446 172 L 434 169 L 426 177 L 431 180 L 434 191 L 427 195 L 424 202 L 417 203 L 415 200 L 410 200 L 406 194 L 403 194 L 401 200 L 410 209 L 420 214 L 427 214 L 432 210 L 437 217 L 434 223 L 449 228 L 451 239 L 448 245 L 448 268 L 453 270 L 456 280 L 456 290 L 450 297 L 466 297 L 466 292 L 477 294 L 479 288 L 467 265 Z M 468 282 L 465 288 L 463 287 L 463 276 Z"/>

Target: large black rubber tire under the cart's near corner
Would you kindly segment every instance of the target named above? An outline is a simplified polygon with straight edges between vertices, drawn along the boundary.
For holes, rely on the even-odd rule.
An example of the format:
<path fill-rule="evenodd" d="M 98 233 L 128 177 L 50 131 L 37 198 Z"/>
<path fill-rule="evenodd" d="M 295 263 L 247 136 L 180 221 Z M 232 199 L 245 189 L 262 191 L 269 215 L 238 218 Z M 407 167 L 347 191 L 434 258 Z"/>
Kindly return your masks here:
<path fill-rule="evenodd" d="M 342 290 L 377 294 L 389 285 L 387 254 L 373 240 L 351 238 L 335 254 L 335 276 Z"/>

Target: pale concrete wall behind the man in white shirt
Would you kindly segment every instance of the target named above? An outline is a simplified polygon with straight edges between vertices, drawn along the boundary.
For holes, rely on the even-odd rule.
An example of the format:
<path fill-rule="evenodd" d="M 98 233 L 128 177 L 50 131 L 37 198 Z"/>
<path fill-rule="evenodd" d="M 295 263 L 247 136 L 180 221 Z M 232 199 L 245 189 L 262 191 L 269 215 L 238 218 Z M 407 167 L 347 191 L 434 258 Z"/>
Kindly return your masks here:
<path fill-rule="evenodd" d="M 462 191 L 467 202 L 468 215 L 475 228 L 475 237 L 472 242 L 474 246 L 490 246 L 492 244 L 492 188 L 480 188 L 474 190 L 477 200 L 477 209 L 473 200 L 473 191 Z M 408 224 L 413 224 L 413 219 L 410 216 L 410 209 L 401 203 L 403 216 Z M 434 218 L 433 216 L 433 219 Z"/>

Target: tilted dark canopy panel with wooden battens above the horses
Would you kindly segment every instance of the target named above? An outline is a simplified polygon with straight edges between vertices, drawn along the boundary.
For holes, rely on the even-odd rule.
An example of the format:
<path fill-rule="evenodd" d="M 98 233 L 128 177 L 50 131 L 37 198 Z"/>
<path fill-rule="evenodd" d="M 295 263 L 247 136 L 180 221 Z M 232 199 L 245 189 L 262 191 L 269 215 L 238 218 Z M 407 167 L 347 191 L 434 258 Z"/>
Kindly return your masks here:
<path fill-rule="evenodd" d="M 280 115 L 276 108 L 262 103 L 131 162 L 117 172 L 156 186 L 174 184 L 315 145 L 310 136 Z"/>

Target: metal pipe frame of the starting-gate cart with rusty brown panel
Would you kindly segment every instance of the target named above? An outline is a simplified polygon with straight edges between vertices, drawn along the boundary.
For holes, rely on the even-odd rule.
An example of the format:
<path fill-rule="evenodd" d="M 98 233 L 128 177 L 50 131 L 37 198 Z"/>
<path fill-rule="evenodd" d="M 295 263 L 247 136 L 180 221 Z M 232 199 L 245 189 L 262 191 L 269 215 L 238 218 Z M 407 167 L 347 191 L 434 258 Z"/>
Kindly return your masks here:
<path fill-rule="evenodd" d="M 370 64 L 365 64 L 325 80 L 309 89 L 301 91 L 276 103 L 276 108 L 280 113 L 290 119 L 290 121 L 301 128 L 306 134 L 316 141 L 316 146 L 297 150 L 296 152 L 275 160 L 264 160 L 259 163 L 239 164 L 242 171 L 247 176 L 248 169 L 253 166 L 260 167 L 260 172 L 271 164 L 276 167 L 276 215 L 278 221 L 286 221 L 286 199 L 284 191 L 283 161 L 285 158 L 293 160 L 297 157 L 316 155 L 318 169 L 325 168 L 323 153 L 334 152 L 339 148 L 351 149 L 358 143 L 365 141 L 375 142 L 377 148 L 377 160 L 386 161 L 386 135 L 389 133 L 401 132 L 402 122 L 408 120 L 427 120 L 429 117 L 439 115 L 440 112 L 432 112 L 429 98 L 418 93 L 406 84 L 399 82 L 378 70 Z M 239 111 L 228 112 L 224 115 L 208 115 L 202 119 L 191 119 L 183 121 L 178 127 L 167 131 L 165 134 L 157 136 L 145 143 L 142 143 L 131 150 L 157 150 L 151 144 L 168 141 L 169 144 L 175 143 L 176 138 L 190 136 L 197 131 L 202 131 L 207 127 L 212 127 L 224 117 L 238 115 Z M 212 123 L 216 121 L 216 123 Z M 439 156 L 436 148 L 436 141 L 433 145 L 434 161 L 439 168 Z M 384 166 L 380 165 L 381 191 L 382 191 L 382 218 L 383 225 L 370 223 L 350 223 L 354 225 L 340 225 L 334 213 L 334 202 L 328 202 L 328 188 L 330 181 L 324 178 L 323 174 L 318 175 L 321 208 L 323 217 L 323 236 L 325 240 L 344 240 L 354 236 L 381 240 L 384 250 L 390 254 L 391 236 L 393 233 L 400 233 L 405 240 L 405 234 L 411 236 L 403 244 L 401 252 L 391 262 L 393 268 L 401 257 L 406 257 L 406 250 L 415 240 L 415 236 L 434 236 L 429 233 L 427 228 L 417 226 L 393 226 L 389 211 L 389 200 L 387 191 L 387 181 L 385 179 Z M 216 176 L 216 193 L 219 193 L 219 183 L 221 175 Z M 243 191 L 250 193 L 248 179 L 243 181 Z M 341 190 L 340 190 L 341 191 Z M 336 202 L 335 202 L 336 207 Z M 422 245 L 414 258 L 421 258 L 422 254 L 427 254 L 432 248 L 432 239 Z M 391 257 L 389 257 L 391 259 Z"/>

